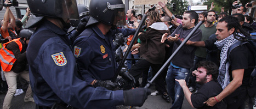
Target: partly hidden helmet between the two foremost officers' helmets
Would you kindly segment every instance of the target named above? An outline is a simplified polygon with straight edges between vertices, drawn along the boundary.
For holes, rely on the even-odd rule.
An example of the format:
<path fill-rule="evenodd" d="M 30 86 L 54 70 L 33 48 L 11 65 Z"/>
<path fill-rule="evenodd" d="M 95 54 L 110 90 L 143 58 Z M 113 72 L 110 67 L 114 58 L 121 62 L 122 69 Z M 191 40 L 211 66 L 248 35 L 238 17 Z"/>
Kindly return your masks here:
<path fill-rule="evenodd" d="M 86 5 L 83 4 L 78 4 L 77 5 L 78 8 L 78 13 L 79 13 L 79 20 L 70 20 L 70 24 L 72 29 L 74 29 L 74 27 L 78 26 L 78 23 L 80 22 L 80 19 L 82 19 L 84 16 L 89 15 L 89 8 L 86 7 Z"/>

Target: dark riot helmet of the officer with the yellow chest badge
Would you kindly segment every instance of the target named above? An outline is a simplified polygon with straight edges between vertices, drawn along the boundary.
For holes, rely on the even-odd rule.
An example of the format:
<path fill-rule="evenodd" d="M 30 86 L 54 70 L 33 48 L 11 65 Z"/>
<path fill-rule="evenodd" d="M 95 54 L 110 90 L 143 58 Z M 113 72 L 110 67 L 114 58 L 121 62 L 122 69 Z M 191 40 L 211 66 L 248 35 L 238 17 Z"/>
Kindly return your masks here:
<path fill-rule="evenodd" d="M 91 0 L 89 9 L 94 22 L 96 19 L 106 25 L 112 25 L 116 17 L 118 23 L 126 23 L 122 0 Z"/>

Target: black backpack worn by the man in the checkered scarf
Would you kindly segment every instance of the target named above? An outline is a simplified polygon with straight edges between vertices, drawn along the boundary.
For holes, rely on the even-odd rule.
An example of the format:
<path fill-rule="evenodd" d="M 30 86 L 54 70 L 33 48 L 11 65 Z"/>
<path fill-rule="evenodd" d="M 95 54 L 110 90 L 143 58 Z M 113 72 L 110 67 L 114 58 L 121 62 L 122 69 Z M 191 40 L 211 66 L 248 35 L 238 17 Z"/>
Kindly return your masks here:
<path fill-rule="evenodd" d="M 244 45 L 244 44 L 246 44 L 248 49 L 253 52 L 253 56 L 254 56 L 255 66 L 248 66 L 248 68 L 253 68 L 253 71 L 250 76 L 249 84 L 247 87 L 248 95 L 251 97 L 254 97 L 256 93 L 256 37 L 249 35 L 248 37 L 246 37 L 246 41 L 237 41 L 236 43 L 231 45 L 229 48 L 229 51 L 227 52 L 227 58 L 228 58 L 228 61 L 230 62 L 230 59 L 229 59 L 230 52 L 233 49 L 235 49 L 237 46 Z"/>

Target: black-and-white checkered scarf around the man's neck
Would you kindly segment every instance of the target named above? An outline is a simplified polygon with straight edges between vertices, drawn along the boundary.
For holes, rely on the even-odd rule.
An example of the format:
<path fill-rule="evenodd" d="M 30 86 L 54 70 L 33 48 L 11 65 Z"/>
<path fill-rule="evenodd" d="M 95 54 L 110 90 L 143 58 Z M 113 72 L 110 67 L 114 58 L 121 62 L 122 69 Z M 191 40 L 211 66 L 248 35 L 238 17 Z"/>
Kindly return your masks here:
<path fill-rule="evenodd" d="M 242 34 L 239 34 L 239 35 L 242 35 Z M 238 41 L 238 40 L 235 39 L 234 35 L 232 34 L 229 37 L 227 37 L 223 40 L 220 40 L 220 41 L 216 41 L 214 43 L 218 47 L 218 49 L 221 50 L 219 76 L 218 76 L 217 80 L 223 89 L 227 86 L 227 84 L 230 83 L 230 80 L 229 80 L 230 63 L 227 61 L 227 52 L 229 50 L 229 47 L 232 44 L 234 44 L 236 41 Z"/>

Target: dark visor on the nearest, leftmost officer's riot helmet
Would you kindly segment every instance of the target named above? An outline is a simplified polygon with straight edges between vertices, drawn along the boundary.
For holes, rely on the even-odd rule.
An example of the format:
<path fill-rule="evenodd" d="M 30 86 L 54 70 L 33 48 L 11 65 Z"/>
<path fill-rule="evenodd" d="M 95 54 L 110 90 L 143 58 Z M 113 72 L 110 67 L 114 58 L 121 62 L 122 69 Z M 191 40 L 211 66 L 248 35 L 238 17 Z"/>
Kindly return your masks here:
<path fill-rule="evenodd" d="M 54 11 L 64 21 L 79 19 L 76 0 L 56 0 Z"/>

